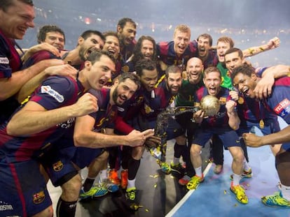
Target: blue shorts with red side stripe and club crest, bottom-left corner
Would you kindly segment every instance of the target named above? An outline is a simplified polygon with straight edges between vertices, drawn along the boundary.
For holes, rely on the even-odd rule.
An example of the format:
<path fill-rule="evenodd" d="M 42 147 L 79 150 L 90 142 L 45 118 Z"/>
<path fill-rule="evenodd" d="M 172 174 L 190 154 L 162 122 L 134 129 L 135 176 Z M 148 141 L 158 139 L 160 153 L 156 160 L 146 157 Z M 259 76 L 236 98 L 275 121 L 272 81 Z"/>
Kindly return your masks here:
<path fill-rule="evenodd" d="M 52 204 L 36 160 L 0 160 L 0 216 L 34 216 Z"/>

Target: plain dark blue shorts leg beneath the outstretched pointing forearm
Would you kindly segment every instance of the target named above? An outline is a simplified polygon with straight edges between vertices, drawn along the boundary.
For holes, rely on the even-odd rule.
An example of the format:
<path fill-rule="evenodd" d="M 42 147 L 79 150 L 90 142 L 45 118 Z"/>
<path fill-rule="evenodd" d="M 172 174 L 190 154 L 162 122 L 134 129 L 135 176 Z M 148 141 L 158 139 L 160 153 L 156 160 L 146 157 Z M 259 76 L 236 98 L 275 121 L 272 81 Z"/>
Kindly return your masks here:
<path fill-rule="evenodd" d="M 95 160 L 99 155 L 104 152 L 104 149 L 90 149 L 85 147 L 77 147 L 74 157 L 71 161 L 76 164 L 80 169 L 88 167 L 92 160 Z"/>

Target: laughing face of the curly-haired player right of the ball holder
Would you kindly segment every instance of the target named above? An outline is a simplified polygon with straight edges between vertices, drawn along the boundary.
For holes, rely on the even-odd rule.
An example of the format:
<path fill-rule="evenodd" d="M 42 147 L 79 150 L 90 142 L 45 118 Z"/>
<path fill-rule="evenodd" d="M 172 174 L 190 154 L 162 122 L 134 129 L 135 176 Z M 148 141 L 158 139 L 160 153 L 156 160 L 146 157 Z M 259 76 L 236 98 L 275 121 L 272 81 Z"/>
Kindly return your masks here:
<path fill-rule="evenodd" d="M 254 89 L 256 87 L 257 77 L 252 73 L 251 77 L 244 73 L 237 73 L 233 78 L 233 86 L 240 91 L 244 96 L 255 98 Z"/>

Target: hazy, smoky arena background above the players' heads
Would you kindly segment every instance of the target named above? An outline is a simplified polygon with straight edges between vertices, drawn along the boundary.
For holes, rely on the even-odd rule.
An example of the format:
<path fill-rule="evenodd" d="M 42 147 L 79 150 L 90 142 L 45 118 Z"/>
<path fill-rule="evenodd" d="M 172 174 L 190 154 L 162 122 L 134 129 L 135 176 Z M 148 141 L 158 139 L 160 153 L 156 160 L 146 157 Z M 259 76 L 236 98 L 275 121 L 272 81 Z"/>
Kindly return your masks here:
<path fill-rule="evenodd" d="M 209 33 L 216 45 L 219 37 L 230 36 L 242 50 L 278 36 L 280 47 L 250 61 L 254 66 L 290 65 L 289 0 L 34 0 L 34 6 L 36 27 L 19 41 L 22 47 L 36 44 L 36 33 L 44 24 L 62 28 L 65 48 L 71 50 L 83 31 L 116 31 L 118 20 L 130 17 L 138 24 L 136 39 L 149 35 L 157 43 L 172 40 L 177 24 L 191 27 L 191 40 Z"/>

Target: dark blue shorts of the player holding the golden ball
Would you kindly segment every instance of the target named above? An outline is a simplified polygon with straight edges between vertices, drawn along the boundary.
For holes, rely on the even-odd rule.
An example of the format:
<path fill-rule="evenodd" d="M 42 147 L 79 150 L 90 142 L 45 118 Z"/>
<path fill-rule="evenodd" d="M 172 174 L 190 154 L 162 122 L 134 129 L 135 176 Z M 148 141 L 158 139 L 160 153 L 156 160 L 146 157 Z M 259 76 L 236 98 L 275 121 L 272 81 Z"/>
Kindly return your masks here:
<path fill-rule="evenodd" d="M 235 132 L 230 128 L 198 128 L 195 131 L 193 144 L 198 144 L 205 147 L 205 144 L 209 141 L 212 135 L 217 135 L 223 143 L 223 147 L 241 147 L 240 138 Z"/>

